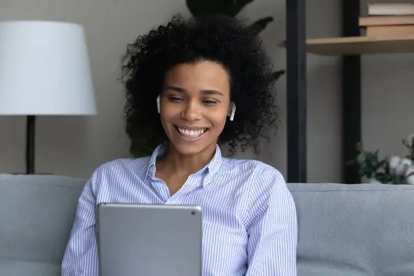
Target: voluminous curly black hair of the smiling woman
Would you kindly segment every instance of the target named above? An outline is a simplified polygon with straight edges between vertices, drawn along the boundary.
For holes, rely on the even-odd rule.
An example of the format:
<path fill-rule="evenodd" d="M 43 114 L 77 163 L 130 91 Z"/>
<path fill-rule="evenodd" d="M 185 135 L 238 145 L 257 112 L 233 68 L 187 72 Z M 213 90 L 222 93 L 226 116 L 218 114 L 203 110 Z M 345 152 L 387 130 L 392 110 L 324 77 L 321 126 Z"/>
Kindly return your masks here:
<path fill-rule="evenodd" d="M 258 152 L 259 140 L 269 139 L 279 119 L 275 105 L 271 63 L 262 40 L 239 19 L 224 16 L 184 19 L 180 15 L 164 26 L 128 44 L 123 80 L 126 88 L 126 132 L 132 143 L 157 146 L 166 140 L 156 99 L 164 76 L 173 66 L 208 60 L 220 63 L 230 76 L 230 98 L 236 119 L 228 122 L 219 144 L 230 153 L 239 145 Z"/>

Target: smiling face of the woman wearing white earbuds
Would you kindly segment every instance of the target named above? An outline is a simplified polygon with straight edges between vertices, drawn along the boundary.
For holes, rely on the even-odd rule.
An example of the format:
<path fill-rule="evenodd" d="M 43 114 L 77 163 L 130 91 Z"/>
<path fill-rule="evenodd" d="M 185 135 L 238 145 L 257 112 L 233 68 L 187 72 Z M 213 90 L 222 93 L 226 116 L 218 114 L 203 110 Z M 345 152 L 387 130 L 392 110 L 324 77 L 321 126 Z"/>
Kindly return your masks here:
<path fill-rule="evenodd" d="M 230 114 L 230 81 L 213 61 L 171 68 L 160 99 L 161 123 L 172 146 L 184 155 L 213 149 Z"/>

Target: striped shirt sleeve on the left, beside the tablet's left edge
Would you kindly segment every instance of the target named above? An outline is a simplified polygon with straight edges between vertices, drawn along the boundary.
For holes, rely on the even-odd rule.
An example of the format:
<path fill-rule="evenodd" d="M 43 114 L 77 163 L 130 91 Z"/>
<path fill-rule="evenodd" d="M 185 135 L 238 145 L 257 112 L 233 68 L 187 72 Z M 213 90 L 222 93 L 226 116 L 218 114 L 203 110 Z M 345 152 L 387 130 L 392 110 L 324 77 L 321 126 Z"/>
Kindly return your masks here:
<path fill-rule="evenodd" d="M 95 175 L 79 197 L 75 221 L 61 265 L 62 276 L 98 276 Z"/>

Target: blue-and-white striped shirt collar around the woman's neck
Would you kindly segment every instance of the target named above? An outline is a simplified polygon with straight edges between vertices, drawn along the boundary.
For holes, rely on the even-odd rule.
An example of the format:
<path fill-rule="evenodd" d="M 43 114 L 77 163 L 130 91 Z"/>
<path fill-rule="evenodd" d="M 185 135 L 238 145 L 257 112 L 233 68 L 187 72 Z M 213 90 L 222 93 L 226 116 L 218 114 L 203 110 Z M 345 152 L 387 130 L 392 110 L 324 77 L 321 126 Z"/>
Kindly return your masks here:
<path fill-rule="evenodd" d="M 164 157 L 167 154 L 168 145 L 166 143 L 160 144 L 155 148 L 154 152 L 150 157 L 150 164 L 147 169 L 147 175 L 153 177 L 155 175 L 155 164 L 157 162 L 157 157 Z M 219 145 L 216 144 L 216 150 L 213 158 L 208 162 L 204 168 L 201 168 L 195 175 L 209 175 L 212 176 L 219 170 L 223 157 L 221 156 L 221 150 Z"/>

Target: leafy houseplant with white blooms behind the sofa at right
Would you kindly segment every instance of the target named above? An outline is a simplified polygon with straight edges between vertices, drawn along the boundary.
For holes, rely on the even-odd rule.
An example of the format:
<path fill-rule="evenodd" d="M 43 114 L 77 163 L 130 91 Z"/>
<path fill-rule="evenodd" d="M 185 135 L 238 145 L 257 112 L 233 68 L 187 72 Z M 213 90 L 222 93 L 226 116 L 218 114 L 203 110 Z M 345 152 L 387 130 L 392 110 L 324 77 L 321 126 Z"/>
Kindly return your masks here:
<path fill-rule="evenodd" d="M 408 148 L 408 155 L 380 158 L 380 150 L 364 150 L 359 143 L 359 154 L 349 163 L 357 164 L 359 176 L 371 183 L 414 185 L 414 134 L 402 139 L 402 144 Z"/>

